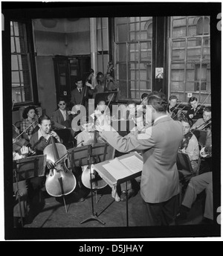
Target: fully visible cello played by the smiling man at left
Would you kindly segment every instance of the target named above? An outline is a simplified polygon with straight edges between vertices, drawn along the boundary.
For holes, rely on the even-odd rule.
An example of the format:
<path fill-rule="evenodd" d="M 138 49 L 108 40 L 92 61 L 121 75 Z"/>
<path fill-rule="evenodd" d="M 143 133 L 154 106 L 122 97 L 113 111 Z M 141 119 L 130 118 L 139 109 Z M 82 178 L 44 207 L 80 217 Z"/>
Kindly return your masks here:
<path fill-rule="evenodd" d="M 65 166 L 63 156 L 67 153 L 66 147 L 63 144 L 55 143 L 51 136 L 52 144 L 49 144 L 43 150 L 43 154 L 47 156 L 47 160 L 51 160 L 55 167 L 46 175 L 45 188 L 51 196 L 64 196 L 74 191 L 77 185 L 76 178 L 71 170 Z M 58 161 L 62 159 L 61 161 Z"/>

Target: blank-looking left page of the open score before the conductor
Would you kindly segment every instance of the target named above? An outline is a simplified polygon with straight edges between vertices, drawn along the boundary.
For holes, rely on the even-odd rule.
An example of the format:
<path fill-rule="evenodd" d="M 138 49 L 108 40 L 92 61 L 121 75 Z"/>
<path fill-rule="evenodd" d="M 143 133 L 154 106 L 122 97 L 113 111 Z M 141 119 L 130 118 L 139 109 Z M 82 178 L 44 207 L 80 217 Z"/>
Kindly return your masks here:
<path fill-rule="evenodd" d="M 118 159 L 109 161 L 103 167 L 117 180 L 131 175 L 130 171 Z"/>

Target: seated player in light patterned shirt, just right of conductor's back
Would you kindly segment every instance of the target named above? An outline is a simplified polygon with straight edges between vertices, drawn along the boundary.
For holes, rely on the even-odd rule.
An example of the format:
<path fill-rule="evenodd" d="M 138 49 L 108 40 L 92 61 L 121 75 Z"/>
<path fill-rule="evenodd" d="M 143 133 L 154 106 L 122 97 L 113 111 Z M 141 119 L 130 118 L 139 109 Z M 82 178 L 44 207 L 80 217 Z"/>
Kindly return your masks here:
<path fill-rule="evenodd" d="M 181 152 L 186 153 L 189 156 L 193 170 L 198 166 L 199 158 L 199 146 L 198 140 L 195 135 L 190 132 L 192 122 L 188 118 L 181 118 L 181 124 L 183 126 L 183 140 L 181 142 Z"/>

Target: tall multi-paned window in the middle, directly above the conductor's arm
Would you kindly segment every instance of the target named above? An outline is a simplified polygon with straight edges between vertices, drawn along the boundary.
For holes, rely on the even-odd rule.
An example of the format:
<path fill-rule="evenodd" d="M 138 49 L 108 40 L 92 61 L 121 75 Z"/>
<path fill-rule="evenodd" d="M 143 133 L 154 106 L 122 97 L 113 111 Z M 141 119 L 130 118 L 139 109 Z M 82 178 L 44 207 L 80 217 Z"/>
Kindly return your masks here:
<path fill-rule="evenodd" d="M 114 41 L 120 99 L 139 100 L 152 88 L 152 17 L 114 18 Z"/>

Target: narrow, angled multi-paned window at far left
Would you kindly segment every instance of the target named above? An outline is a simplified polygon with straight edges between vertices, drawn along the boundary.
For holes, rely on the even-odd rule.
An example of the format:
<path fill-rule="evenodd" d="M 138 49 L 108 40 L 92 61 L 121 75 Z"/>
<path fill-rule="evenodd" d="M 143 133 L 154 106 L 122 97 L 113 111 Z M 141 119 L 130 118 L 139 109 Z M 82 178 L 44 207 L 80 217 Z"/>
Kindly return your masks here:
<path fill-rule="evenodd" d="M 25 23 L 10 22 L 12 100 L 33 102 L 30 49 Z"/>

